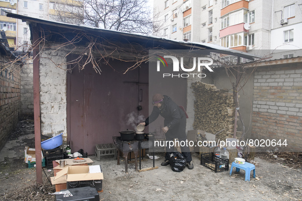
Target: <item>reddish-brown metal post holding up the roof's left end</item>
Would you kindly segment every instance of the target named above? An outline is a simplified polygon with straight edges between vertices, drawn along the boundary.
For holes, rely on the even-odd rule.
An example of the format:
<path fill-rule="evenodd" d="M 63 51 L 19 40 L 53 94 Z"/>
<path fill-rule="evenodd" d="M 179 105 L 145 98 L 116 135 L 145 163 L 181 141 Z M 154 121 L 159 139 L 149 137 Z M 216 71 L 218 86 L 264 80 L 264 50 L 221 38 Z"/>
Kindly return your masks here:
<path fill-rule="evenodd" d="M 35 148 L 36 148 L 36 176 L 37 183 L 42 184 L 42 155 L 41 155 L 41 124 L 40 124 L 40 76 L 39 76 L 39 32 L 32 24 L 33 31 L 33 81 L 34 81 L 34 123 L 35 123 Z"/>

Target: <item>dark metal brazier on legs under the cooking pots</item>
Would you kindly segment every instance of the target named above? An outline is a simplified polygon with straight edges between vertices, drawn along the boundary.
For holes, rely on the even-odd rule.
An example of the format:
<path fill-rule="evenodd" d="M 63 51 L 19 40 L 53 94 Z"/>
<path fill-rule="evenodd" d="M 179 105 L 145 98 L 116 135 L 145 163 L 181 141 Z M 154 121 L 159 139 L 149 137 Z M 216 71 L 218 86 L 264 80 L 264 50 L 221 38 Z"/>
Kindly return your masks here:
<path fill-rule="evenodd" d="M 123 153 L 125 159 L 125 172 L 128 173 L 128 154 L 134 153 L 135 170 L 137 170 L 137 155 L 140 154 L 140 168 L 141 168 L 141 150 L 149 148 L 149 140 L 131 140 L 123 141 L 121 137 L 113 136 L 113 144 L 118 148 L 118 165 L 120 165 L 120 152 Z M 154 160 L 154 157 L 153 157 Z"/>

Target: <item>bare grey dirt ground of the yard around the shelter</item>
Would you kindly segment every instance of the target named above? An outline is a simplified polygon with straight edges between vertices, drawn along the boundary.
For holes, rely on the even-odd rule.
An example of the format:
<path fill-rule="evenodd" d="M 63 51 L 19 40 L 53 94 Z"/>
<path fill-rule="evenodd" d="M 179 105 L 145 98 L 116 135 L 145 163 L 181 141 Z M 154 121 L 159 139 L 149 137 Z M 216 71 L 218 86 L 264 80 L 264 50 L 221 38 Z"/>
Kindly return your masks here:
<path fill-rule="evenodd" d="M 0 152 L 0 200 L 54 200 L 54 192 L 48 177 L 53 170 L 44 168 L 43 185 L 37 185 L 35 168 L 24 163 L 24 147 L 34 146 L 32 120 L 18 123 L 6 146 Z M 245 181 L 245 172 L 215 173 L 201 166 L 197 154 L 193 154 L 194 169 L 185 168 L 173 172 L 170 166 L 162 167 L 162 154 L 155 160 L 158 169 L 137 172 L 134 163 L 125 173 L 124 161 L 97 160 L 89 156 L 93 164 L 100 164 L 104 173 L 103 192 L 100 200 L 302 200 L 301 166 L 288 166 L 273 154 L 259 154 L 255 158 L 257 178 Z M 152 167 L 153 161 L 144 158 L 142 168 Z M 252 175 L 252 172 L 251 172 Z"/>

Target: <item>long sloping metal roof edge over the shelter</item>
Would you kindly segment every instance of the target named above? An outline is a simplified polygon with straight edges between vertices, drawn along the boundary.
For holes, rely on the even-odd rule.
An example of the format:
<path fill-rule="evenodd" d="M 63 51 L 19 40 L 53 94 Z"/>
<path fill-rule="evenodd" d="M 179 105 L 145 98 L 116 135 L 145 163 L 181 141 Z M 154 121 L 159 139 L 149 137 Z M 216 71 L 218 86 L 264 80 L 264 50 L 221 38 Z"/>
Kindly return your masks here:
<path fill-rule="evenodd" d="M 153 45 L 154 47 L 160 46 L 165 49 L 207 49 L 207 50 L 211 50 L 211 52 L 234 55 L 249 60 L 254 60 L 255 58 L 259 58 L 257 56 L 245 52 L 236 51 L 235 49 L 230 49 L 210 43 L 177 41 L 172 39 L 160 38 L 156 36 L 145 36 L 140 34 L 132 34 L 127 32 L 115 31 L 115 30 L 89 27 L 82 24 L 69 24 L 64 22 L 38 19 L 38 18 L 33 18 L 33 17 L 14 14 L 14 13 L 7 13 L 7 17 L 21 19 L 23 22 L 27 22 L 28 24 L 40 24 L 41 26 L 47 26 L 48 28 L 52 26 L 52 27 L 60 28 L 60 30 L 62 28 L 65 28 L 69 30 L 78 30 L 86 33 L 95 33 L 98 34 L 98 36 L 114 38 L 115 40 L 118 38 L 121 41 L 127 40 L 130 42 L 136 42 L 138 44 L 143 43 L 144 45 L 148 43 L 149 46 L 150 45 L 151 46 Z"/>

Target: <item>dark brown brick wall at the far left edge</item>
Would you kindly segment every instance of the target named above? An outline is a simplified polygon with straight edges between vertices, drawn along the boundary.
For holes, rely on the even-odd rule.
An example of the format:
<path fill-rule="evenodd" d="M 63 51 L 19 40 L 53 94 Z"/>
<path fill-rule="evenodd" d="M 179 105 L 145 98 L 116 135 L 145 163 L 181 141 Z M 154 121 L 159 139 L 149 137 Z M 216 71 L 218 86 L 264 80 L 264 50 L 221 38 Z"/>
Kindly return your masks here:
<path fill-rule="evenodd" d="M 1 66 L 8 62 L 0 56 Z M 0 69 L 0 150 L 14 130 L 21 111 L 20 66 L 13 65 Z"/>

